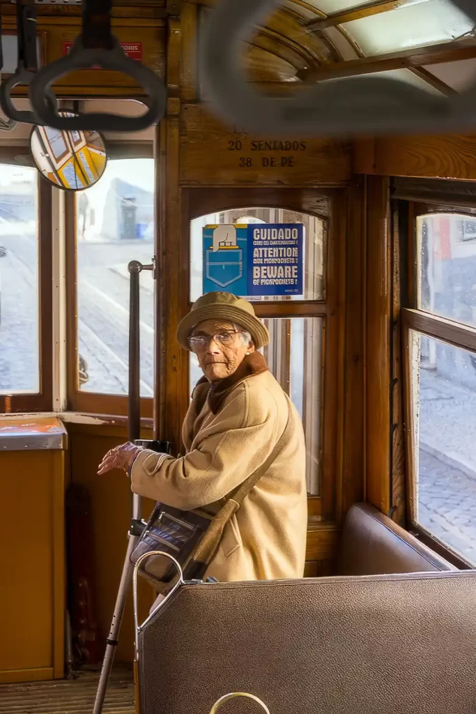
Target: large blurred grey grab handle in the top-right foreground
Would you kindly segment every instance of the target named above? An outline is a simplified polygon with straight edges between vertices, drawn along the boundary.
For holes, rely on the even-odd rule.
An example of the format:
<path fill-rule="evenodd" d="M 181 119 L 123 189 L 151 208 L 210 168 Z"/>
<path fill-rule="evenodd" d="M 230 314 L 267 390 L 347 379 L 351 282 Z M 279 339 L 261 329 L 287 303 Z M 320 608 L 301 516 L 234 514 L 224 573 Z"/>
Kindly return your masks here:
<path fill-rule="evenodd" d="M 280 0 L 221 0 L 203 28 L 201 71 L 216 114 L 254 134 L 352 136 L 460 131 L 476 126 L 476 84 L 437 96 L 397 79 L 322 82 L 293 97 L 260 94 L 246 81 L 243 48 Z M 453 3 L 476 22 L 474 0 Z"/>

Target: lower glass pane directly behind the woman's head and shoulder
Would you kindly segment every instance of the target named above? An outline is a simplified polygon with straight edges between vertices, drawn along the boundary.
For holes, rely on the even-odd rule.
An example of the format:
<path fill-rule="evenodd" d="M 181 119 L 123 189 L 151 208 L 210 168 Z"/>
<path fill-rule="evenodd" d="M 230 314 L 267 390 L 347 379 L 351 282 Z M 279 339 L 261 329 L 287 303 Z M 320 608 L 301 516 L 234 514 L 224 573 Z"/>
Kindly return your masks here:
<path fill-rule="evenodd" d="M 270 371 L 295 404 L 303 420 L 308 492 L 320 491 L 320 418 L 322 393 L 323 321 L 321 318 L 264 320 L 270 344 L 261 352 Z M 203 377 L 191 354 L 190 383 Z"/>

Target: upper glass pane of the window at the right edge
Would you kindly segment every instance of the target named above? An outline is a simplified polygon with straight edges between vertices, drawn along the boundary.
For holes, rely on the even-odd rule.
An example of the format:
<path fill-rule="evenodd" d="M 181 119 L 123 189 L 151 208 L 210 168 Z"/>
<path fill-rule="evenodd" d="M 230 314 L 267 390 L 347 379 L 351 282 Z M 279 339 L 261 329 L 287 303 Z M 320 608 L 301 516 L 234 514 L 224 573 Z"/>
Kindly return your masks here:
<path fill-rule="evenodd" d="M 476 216 L 417 218 L 417 305 L 476 326 Z"/>

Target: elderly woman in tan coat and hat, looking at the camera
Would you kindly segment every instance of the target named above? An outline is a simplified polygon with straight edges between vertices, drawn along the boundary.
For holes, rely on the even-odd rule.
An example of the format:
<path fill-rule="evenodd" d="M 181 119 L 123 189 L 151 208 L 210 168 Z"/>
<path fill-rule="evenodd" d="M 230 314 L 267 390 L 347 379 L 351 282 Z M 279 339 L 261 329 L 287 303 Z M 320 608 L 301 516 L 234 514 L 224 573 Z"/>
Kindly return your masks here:
<path fill-rule="evenodd" d="M 302 578 L 308 520 L 303 426 L 256 351 L 268 344 L 268 331 L 247 301 L 208 293 L 178 326 L 177 338 L 196 353 L 204 374 L 183 424 L 183 456 L 125 444 L 106 455 L 98 473 L 123 468 L 140 496 L 214 513 L 287 434 L 226 524 L 206 575 L 221 582 Z"/>

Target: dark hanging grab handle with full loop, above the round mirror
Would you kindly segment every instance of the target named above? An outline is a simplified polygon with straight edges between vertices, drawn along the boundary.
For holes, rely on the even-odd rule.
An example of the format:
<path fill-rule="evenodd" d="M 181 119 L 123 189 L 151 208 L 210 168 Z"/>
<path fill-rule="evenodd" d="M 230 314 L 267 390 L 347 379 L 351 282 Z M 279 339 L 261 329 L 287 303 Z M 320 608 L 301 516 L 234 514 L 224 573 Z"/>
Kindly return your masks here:
<path fill-rule="evenodd" d="M 166 111 L 163 81 L 148 67 L 128 57 L 111 33 L 112 0 L 83 0 L 83 26 L 71 51 L 43 67 L 31 81 L 31 104 L 47 126 L 60 131 L 142 131 L 157 124 Z M 59 116 L 49 106 L 45 94 L 51 84 L 75 69 L 99 66 L 127 74 L 146 90 L 147 111 L 142 116 L 118 114 L 79 114 Z"/>

